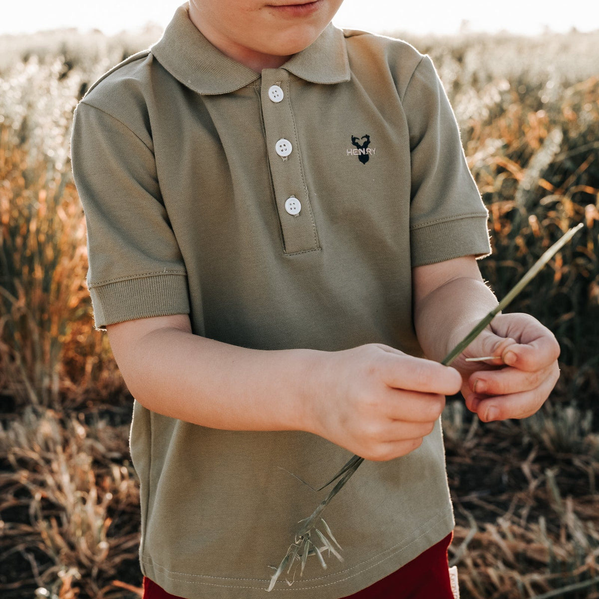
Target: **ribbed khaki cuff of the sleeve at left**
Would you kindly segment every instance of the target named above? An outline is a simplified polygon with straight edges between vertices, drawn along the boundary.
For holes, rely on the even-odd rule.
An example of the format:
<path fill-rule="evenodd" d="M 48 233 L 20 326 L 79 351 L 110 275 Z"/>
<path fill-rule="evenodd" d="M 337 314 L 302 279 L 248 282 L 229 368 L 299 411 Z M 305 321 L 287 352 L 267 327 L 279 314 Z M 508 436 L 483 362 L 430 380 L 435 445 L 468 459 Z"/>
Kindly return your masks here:
<path fill-rule="evenodd" d="M 89 288 L 96 331 L 123 320 L 189 314 L 185 274 L 159 274 Z"/>

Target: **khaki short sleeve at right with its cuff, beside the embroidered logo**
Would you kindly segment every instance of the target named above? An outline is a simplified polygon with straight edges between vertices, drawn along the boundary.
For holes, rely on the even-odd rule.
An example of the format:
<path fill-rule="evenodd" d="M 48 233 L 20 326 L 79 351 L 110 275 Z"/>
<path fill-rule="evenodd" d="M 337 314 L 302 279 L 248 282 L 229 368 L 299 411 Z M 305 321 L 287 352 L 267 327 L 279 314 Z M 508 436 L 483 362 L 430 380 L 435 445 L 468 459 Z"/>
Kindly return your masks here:
<path fill-rule="evenodd" d="M 462 147 L 458 123 L 428 55 L 403 97 L 410 135 L 412 266 L 491 252 L 488 211 Z"/>

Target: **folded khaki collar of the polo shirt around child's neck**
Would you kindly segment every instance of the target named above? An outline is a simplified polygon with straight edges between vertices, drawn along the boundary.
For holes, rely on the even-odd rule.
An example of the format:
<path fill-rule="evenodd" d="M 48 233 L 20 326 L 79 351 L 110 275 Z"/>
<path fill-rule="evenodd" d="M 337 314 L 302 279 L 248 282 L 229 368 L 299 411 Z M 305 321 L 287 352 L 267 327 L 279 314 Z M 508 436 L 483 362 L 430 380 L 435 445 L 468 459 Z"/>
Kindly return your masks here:
<path fill-rule="evenodd" d="M 189 0 L 180 5 L 162 37 L 150 51 L 173 77 L 194 92 L 233 92 L 261 74 L 229 58 L 202 35 L 189 18 Z M 343 31 L 329 23 L 310 46 L 280 68 L 312 83 L 350 80 Z"/>

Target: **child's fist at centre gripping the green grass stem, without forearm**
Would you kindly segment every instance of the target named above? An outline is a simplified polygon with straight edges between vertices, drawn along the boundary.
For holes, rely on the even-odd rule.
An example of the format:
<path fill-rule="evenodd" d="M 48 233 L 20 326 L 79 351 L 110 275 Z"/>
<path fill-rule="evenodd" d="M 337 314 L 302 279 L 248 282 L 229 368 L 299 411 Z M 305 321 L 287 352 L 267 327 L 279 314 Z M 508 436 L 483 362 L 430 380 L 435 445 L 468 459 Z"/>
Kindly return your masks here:
<path fill-rule="evenodd" d="M 310 432 L 372 461 L 419 447 L 443 412 L 445 395 L 462 385 L 455 368 L 382 343 L 320 352 L 316 360 Z"/>

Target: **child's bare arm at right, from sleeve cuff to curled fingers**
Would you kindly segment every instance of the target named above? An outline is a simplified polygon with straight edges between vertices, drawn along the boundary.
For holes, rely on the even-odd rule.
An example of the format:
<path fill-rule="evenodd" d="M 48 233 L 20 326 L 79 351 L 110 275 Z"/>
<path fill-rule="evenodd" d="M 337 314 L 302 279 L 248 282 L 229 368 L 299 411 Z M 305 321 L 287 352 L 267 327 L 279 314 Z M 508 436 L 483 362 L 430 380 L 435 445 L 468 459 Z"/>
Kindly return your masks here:
<path fill-rule="evenodd" d="M 426 356 L 436 361 L 498 304 L 474 256 L 415 267 L 412 280 L 416 335 Z M 465 361 L 482 356 L 500 357 Z M 468 409 L 488 422 L 537 412 L 559 378 L 558 356 L 552 332 L 534 317 L 500 313 L 452 366 L 462 374 Z"/>

